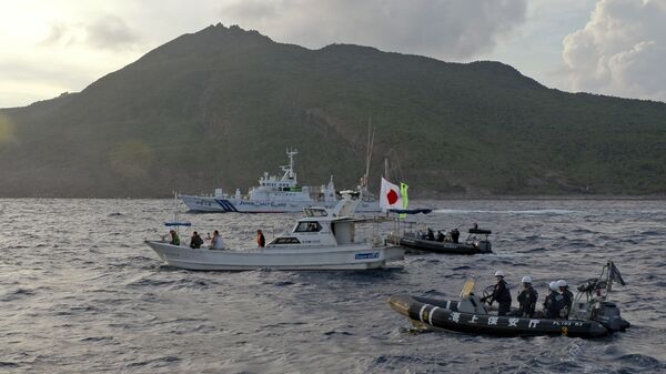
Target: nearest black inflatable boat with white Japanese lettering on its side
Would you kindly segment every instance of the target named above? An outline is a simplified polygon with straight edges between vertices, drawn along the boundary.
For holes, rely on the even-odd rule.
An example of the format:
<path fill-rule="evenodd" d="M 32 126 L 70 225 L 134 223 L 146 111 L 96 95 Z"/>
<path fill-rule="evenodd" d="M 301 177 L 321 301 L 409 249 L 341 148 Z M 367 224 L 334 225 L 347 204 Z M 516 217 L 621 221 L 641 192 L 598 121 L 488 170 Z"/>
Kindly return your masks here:
<path fill-rule="evenodd" d="M 591 279 L 578 287 L 569 320 L 526 319 L 491 314 L 475 294 L 475 281 L 468 280 L 460 301 L 442 301 L 411 295 L 389 299 L 393 310 L 408 317 L 420 328 L 437 327 L 471 334 L 497 336 L 566 335 L 599 337 L 625 331 L 629 323 L 620 317 L 619 309 L 606 301 L 617 270 L 613 262 L 604 266 L 602 276 Z M 619 272 L 616 272 L 619 276 Z M 619 276 L 620 283 L 624 284 Z M 509 313 L 511 314 L 511 313 Z"/>

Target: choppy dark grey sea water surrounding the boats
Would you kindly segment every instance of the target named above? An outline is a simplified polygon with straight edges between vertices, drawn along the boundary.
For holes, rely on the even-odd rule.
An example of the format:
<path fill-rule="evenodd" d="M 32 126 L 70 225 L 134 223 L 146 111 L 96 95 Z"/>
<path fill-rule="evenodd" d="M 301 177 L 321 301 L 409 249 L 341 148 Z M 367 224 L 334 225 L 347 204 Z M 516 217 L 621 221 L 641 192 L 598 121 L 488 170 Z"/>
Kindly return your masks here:
<path fill-rule="evenodd" d="M 432 226 L 493 230 L 495 253 L 410 255 L 367 272 L 192 272 L 143 244 L 167 200 L 0 200 L 0 372 L 664 373 L 665 201 L 433 201 Z M 228 245 L 297 214 L 183 214 Z M 462 231 L 462 230 L 461 230 Z M 183 234 L 186 236 L 186 234 Z M 516 290 L 598 275 L 614 260 L 625 333 L 598 340 L 417 333 L 395 293 L 454 299 L 465 277 Z"/>

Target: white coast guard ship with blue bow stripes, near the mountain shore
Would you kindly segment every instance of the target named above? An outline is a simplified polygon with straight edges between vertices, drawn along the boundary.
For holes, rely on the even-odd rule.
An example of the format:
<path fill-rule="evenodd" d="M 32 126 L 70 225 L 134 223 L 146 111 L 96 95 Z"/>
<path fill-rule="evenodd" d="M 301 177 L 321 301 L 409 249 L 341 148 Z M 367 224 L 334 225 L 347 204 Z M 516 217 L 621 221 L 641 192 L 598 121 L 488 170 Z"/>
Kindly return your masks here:
<path fill-rule="evenodd" d="M 339 199 L 335 195 L 333 178 L 321 188 L 299 186 L 294 171 L 294 155 L 297 150 L 287 150 L 289 165 L 280 166 L 282 176 L 269 175 L 259 179 L 259 186 L 251 188 L 246 196 L 236 189 L 228 195 L 222 189 L 215 189 L 213 195 L 181 195 L 181 200 L 191 211 L 199 212 L 239 212 L 239 213 L 284 213 L 302 212 L 313 205 L 333 208 Z"/>

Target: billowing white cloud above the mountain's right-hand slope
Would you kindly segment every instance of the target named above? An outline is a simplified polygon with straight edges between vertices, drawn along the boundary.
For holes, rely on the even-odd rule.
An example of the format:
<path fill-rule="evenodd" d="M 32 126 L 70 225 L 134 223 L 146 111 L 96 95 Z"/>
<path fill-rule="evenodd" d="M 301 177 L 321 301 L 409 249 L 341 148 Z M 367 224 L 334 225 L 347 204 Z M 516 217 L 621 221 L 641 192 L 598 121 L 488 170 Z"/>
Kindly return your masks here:
<path fill-rule="evenodd" d="M 666 101 L 666 0 L 599 0 L 562 58 L 574 91 Z"/>

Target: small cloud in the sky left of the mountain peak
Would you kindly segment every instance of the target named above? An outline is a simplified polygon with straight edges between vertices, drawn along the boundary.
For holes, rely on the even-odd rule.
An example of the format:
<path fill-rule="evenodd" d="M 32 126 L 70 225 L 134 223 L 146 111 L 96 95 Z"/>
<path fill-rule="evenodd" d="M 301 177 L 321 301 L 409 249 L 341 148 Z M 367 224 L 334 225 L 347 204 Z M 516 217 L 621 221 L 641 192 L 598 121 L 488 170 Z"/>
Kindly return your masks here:
<path fill-rule="evenodd" d="M 90 23 L 54 22 L 40 44 L 120 50 L 133 48 L 140 41 L 139 33 L 128 27 L 121 18 L 105 14 Z"/>

